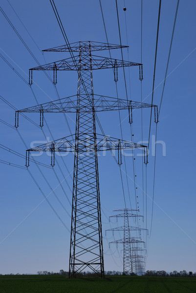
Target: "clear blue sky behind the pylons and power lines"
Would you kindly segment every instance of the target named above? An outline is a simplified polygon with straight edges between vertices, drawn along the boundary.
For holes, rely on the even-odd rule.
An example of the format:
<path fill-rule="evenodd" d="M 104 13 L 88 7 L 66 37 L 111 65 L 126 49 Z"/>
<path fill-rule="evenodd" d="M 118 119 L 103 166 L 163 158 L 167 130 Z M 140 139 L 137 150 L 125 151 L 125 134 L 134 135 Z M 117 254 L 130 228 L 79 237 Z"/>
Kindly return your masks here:
<path fill-rule="evenodd" d="M 38 47 L 46 48 L 63 45 L 65 43 L 49 0 L 9 0 L 26 29 Z M 65 27 L 69 42 L 95 41 L 107 42 L 101 16 L 99 0 L 55 0 L 61 20 Z M 153 104 L 160 104 L 161 91 L 165 76 L 170 40 L 173 29 L 174 14 L 177 0 L 162 1 L 160 15 L 160 31 L 157 50 L 157 64 L 155 75 L 155 91 Z M 143 0 L 143 55 L 142 63 L 144 80 L 142 83 L 143 100 L 151 103 L 152 80 L 154 67 L 154 53 L 156 41 L 156 26 L 158 16 L 158 0 Z M 119 44 L 118 23 L 114 0 L 102 1 L 106 29 L 110 43 Z M 132 62 L 141 62 L 141 1 L 125 0 L 127 36 L 129 45 L 129 59 Z M 22 36 L 22 39 L 31 49 L 41 64 L 50 63 L 70 57 L 69 53 L 47 53 L 39 51 L 36 44 L 28 35 L 22 23 L 17 18 L 7 0 L 1 1 L 1 7 Z M 119 21 L 122 43 L 127 44 L 124 1 L 118 0 Z M 148 239 L 148 257 L 146 270 L 186 270 L 196 272 L 196 136 L 195 108 L 196 108 L 196 1 L 180 0 L 171 59 L 166 80 L 163 103 L 158 124 L 156 155 L 156 175 L 154 193 L 154 211 L 152 234 Z M 0 14 L 0 54 L 28 81 L 28 69 L 37 66 L 21 40 L 4 16 Z M 124 49 L 124 60 L 128 60 L 128 51 Z M 108 51 L 94 55 L 109 57 Z M 120 50 L 111 51 L 111 57 L 121 59 Z M 45 60 L 44 60 L 45 59 Z M 0 95 L 18 109 L 36 105 L 30 87 L 0 58 Z M 125 70 L 128 84 L 128 95 L 132 101 L 141 101 L 140 81 L 138 68 Z M 118 94 L 126 99 L 123 70 L 118 71 Z M 115 83 L 111 69 L 93 72 L 94 93 L 116 97 Z M 56 100 L 53 85 L 43 72 L 34 72 L 32 89 L 38 102 L 45 103 Z M 58 73 L 57 89 L 61 98 L 74 95 L 77 92 L 77 73 Z M 15 111 L 0 100 L 0 119 L 14 125 Z M 39 124 L 38 114 L 27 116 Z M 104 112 L 98 115 L 102 127 L 107 135 L 120 138 L 118 113 Z M 48 126 L 54 139 L 70 134 L 63 114 L 46 114 Z M 68 114 L 67 120 L 71 132 L 75 131 L 75 114 Z M 121 120 L 123 137 L 131 139 L 127 111 L 122 111 Z M 148 141 L 150 109 L 143 111 L 143 137 Z M 45 142 L 43 132 L 30 122 L 20 117 L 20 134 L 26 145 L 32 142 Z M 44 132 L 49 140 L 51 134 L 44 126 Z M 100 133 L 99 127 L 97 132 Z M 25 154 L 26 147 L 22 143 L 16 130 L 0 123 L 1 143 L 19 153 Z M 133 112 L 133 141 L 141 142 L 141 111 Z M 155 134 L 155 124 L 152 122 L 152 135 Z M 147 181 L 147 227 L 150 229 L 152 212 L 153 187 L 153 137 L 150 142 L 150 155 Z M 145 144 L 145 143 L 144 143 Z M 166 155 L 162 146 L 166 146 Z M 143 212 L 142 198 L 142 159 L 135 152 L 135 170 L 137 174 L 138 202 Z M 46 154 L 36 158 L 50 166 L 50 157 Z M 0 160 L 24 166 L 25 160 L 0 149 Z M 66 177 L 62 186 L 67 198 L 71 201 L 73 155 L 68 154 L 59 164 Z M 126 157 L 131 206 L 135 208 L 132 158 Z M 42 175 L 32 163 L 30 172 L 37 180 L 40 188 L 47 196 L 51 189 L 45 183 Z M 65 193 L 51 169 L 41 167 L 44 176 L 62 201 L 65 209 L 56 200 L 54 194 L 48 200 L 61 216 L 65 225 L 70 229 L 71 207 Z M 128 188 L 125 176 L 125 164 L 122 165 L 123 182 L 127 206 L 130 208 Z M 55 166 L 59 179 L 64 179 L 58 166 Z M 119 168 L 107 153 L 106 157 L 99 158 L 100 192 L 102 206 L 102 227 L 104 236 L 105 270 L 122 271 L 122 247 L 116 251 L 112 234 L 105 230 L 116 227 L 114 220 L 109 224 L 109 216 L 114 209 L 124 208 L 122 185 Z M 70 233 L 62 225 L 46 201 L 29 173 L 25 169 L 0 164 L 0 273 L 36 273 L 37 271 L 59 272 L 68 270 Z M 70 188 L 70 189 L 69 189 Z M 144 207 L 144 210 L 146 207 Z M 121 226 L 120 221 L 118 225 Z M 131 225 L 133 223 L 131 222 Z M 146 223 L 142 224 L 146 225 Z M 122 235 L 121 235 L 122 236 Z M 115 234 L 115 239 L 120 235 Z M 113 257 L 111 256 L 113 253 Z"/>

